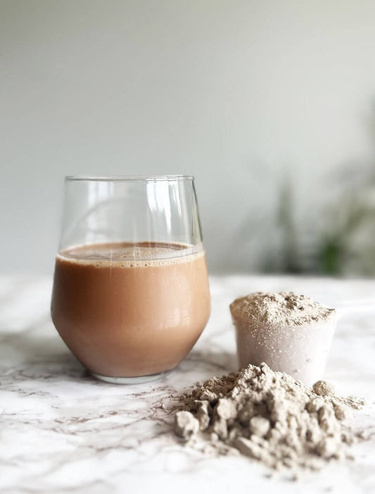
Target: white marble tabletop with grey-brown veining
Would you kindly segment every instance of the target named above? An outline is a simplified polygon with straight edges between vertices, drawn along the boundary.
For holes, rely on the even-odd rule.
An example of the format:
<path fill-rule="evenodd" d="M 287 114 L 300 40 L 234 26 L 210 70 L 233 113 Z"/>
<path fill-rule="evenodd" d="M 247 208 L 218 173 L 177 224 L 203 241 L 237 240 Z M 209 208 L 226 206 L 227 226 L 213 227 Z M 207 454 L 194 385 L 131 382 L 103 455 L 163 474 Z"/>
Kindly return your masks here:
<path fill-rule="evenodd" d="M 197 380 L 236 367 L 228 305 L 250 291 L 293 289 L 352 309 L 338 324 L 326 379 L 364 396 L 355 417 L 368 441 L 356 460 L 298 482 L 267 477 L 245 457 L 205 457 L 170 433 L 158 405 Z M 138 386 L 91 379 L 49 319 L 51 280 L 0 277 L 0 492 L 371 493 L 375 492 L 375 281 L 213 277 L 212 317 L 179 368 Z M 353 303 L 356 303 L 353 307 Z"/>

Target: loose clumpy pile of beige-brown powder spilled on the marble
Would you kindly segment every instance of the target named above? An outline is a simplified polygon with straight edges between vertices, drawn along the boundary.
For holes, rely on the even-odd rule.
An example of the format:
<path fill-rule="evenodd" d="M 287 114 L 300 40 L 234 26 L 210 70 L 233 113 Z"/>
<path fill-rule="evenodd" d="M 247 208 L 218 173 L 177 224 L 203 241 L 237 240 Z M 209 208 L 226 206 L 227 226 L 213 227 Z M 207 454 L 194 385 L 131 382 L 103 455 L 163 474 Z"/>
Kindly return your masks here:
<path fill-rule="evenodd" d="M 345 419 L 363 404 L 339 398 L 325 381 L 307 388 L 265 363 L 248 365 L 182 395 L 174 432 L 189 443 L 199 433 L 209 449 L 237 450 L 274 469 L 319 469 L 350 457 L 354 438 Z"/>

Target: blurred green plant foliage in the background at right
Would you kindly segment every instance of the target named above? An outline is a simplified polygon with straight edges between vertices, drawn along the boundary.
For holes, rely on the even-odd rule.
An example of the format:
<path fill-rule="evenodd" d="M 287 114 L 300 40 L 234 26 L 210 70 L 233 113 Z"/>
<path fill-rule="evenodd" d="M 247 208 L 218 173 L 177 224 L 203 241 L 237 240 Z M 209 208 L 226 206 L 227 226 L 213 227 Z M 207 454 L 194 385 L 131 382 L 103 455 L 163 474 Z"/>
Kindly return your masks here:
<path fill-rule="evenodd" d="M 327 200 L 315 211 L 314 225 L 298 224 L 293 183 L 283 179 L 276 219 L 281 232 L 279 256 L 265 260 L 266 271 L 330 276 L 375 274 L 374 167 L 345 169 L 333 177 Z M 359 178 L 358 178 L 359 177 Z M 334 198 L 332 198 L 333 196 Z M 306 228 L 310 227 L 310 228 Z M 309 239 L 305 241 L 306 229 Z M 307 248 L 309 246 L 309 248 Z"/>

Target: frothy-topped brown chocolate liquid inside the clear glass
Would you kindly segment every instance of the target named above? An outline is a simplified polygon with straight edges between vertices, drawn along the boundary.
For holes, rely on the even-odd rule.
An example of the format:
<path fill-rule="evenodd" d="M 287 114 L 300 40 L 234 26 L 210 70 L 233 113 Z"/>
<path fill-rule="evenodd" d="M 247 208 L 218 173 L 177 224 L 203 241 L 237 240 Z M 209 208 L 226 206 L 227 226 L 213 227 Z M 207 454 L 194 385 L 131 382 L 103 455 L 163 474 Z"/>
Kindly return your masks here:
<path fill-rule="evenodd" d="M 131 377 L 176 367 L 210 315 L 204 252 L 167 243 L 100 243 L 56 257 L 51 315 L 91 372 Z M 189 252 L 189 251 L 188 251 Z"/>

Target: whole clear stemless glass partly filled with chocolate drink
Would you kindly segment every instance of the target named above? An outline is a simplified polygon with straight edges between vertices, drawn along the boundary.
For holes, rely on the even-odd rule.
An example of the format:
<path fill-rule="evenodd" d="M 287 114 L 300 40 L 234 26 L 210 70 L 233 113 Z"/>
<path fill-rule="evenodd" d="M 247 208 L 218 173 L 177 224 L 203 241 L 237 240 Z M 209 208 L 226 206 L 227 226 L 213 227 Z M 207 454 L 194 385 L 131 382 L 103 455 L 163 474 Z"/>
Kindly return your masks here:
<path fill-rule="evenodd" d="M 193 177 L 66 177 L 53 324 L 97 379 L 157 379 L 210 316 Z"/>

